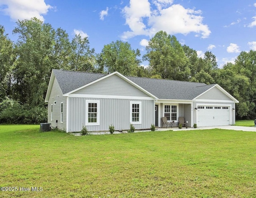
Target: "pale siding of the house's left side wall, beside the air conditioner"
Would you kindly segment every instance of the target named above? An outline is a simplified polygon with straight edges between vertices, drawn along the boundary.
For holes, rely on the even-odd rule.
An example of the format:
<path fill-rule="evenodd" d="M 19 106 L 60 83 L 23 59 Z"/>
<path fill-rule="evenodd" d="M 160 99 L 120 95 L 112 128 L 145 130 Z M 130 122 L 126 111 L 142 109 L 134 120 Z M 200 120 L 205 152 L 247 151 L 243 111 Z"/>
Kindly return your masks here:
<path fill-rule="evenodd" d="M 52 90 L 48 101 L 48 123 L 52 124 L 52 128 L 56 127 L 56 120 L 58 120 L 58 129 L 66 131 L 66 99 L 62 96 L 62 91 L 56 79 L 54 79 Z M 60 108 L 63 103 L 63 123 L 60 121 Z M 52 105 L 52 119 L 51 119 L 51 105 Z"/>

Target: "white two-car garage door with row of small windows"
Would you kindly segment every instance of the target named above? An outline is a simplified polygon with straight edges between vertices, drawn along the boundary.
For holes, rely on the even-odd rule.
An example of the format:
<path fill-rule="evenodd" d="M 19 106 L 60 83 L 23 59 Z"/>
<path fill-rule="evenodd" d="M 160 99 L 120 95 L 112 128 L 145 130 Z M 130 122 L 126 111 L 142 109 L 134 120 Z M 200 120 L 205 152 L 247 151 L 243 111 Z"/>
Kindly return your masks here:
<path fill-rule="evenodd" d="M 230 106 L 198 106 L 198 127 L 230 125 Z"/>

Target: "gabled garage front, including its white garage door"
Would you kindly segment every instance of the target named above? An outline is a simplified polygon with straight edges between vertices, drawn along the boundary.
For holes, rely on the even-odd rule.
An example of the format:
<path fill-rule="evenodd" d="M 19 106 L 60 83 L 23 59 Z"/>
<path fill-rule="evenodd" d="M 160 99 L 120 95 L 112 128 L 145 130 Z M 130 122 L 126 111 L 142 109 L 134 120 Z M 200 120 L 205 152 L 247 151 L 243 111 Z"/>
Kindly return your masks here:
<path fill-rule="evenodd" d="M 193 122 L 198 127 L 235 124 L 235 102 L 217 87 L 198 97 L 193 107 L 197 107 L 193 110 Z"/>

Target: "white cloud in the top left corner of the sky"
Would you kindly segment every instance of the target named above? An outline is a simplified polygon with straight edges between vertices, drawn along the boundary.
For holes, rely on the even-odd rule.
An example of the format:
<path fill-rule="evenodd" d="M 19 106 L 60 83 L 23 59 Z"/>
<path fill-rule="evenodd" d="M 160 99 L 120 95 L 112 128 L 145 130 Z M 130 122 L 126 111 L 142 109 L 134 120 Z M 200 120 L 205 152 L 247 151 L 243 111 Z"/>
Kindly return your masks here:
<path fill-rule="evenodd" d="M 3 6 L 0 11 L 10 16 L 14 21 L 33 17 L 44 21 L 42 15 L 47 14 L 53 8 L 47 5 L 44 0 L 0 0 L 0 6 Z"/>

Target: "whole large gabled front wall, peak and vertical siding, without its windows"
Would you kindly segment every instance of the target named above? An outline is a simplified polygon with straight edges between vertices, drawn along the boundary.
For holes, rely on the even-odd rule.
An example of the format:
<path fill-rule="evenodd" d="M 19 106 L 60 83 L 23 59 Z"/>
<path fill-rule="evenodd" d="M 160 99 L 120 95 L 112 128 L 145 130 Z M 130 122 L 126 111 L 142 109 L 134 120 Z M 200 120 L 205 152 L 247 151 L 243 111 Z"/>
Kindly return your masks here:
<path fill-rule="evenodd" d="M 154 124 L 154 99 L 118 75 L 112 75 L 70 94 L 68 131 L 81 131 L 86 125 L 86 100 L 100 102 L 99 125 L 88 125 L 89 131 L 130 129 L 130 102 L 141 102 L 141 124 L 135 129 L 149 129 Z"/>

